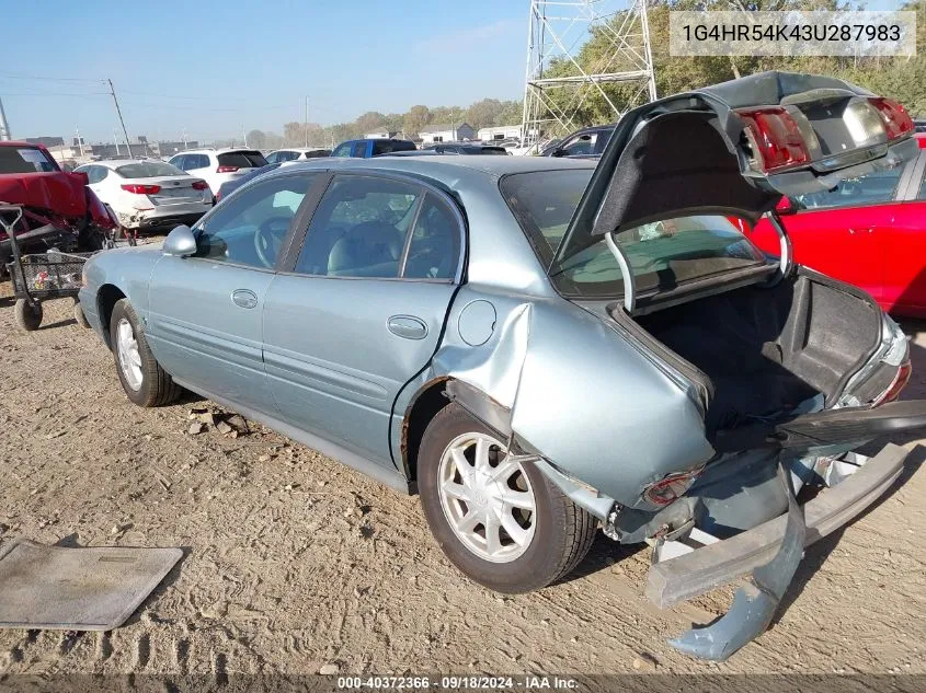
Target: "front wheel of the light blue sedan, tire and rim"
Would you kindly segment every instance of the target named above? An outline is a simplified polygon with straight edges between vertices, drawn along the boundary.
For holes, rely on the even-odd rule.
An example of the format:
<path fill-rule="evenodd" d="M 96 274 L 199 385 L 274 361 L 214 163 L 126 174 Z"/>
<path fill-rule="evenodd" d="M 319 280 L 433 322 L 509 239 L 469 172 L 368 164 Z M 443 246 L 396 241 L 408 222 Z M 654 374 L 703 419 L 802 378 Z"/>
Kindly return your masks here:
<path fill-rule="evenodd" d="M 113 308 L 110 342 L 119 382 L 134 404 L 163 406 L 180 396 L 180 385 L 151 354 L 145 330 L 128 299 L 117 301 Z"/>

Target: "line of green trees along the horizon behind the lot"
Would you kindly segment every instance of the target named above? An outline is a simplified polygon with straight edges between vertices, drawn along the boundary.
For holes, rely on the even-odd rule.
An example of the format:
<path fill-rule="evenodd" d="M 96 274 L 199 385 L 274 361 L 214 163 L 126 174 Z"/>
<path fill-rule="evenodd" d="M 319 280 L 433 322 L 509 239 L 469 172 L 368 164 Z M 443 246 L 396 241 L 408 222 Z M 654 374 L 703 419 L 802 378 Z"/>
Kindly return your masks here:
<path fill-rule="evenodd" d="M 858 10 L 862 3 L 843 0 L 753 0 L 756 9 L 768 10 Z M 698 89 L 718 82 L 745 77 L 765 70 L 814 72 L 846 79 L 867 88 L 877 94 L 896 99 L 911 114 L 926 115 L 926 0 L 905 2 L 901 9 L 917 13 L 916 32 L 919 53 L 913 57 L 675 57 L 668 48 L 668 13 L 672 10 L 702 9 L 705 0 L 648 0 L 651 48 L 655 69 L 656 90 L 660 96 L 681 91 Z M 709 10 L 729 10 L 739 7 L 733 2 L 709 0 Z M 618 14 L 611 19 L 615 26 L 622 22 Z M 615 60 L 611 49 L 613 34 L 604 27 L 593 28 L 588 41 L 579 50 L 576 62 L 586 72 L 618 71 L 621 67 Z M 602 69 L 605 68 L 606 69 Z M 567 77 L 578 73 L 570 60 L 555 60 L 545 77 Z M 632 103 L 635 90 L 626 84 L 604 84 L 603 90 L 618 107 Z M 573 125 L 597 125 L 615 119 L 607 101 L 596 89 L 584 94 Z M 567 92 L 552 94 L 557 99 L 573 96 Z M 564 105 L 560 103 L 559 105 Z M 286 123 L 283 134 L 252 130 L 248 145 L 258 148 L 282 146 L 331 147 L 346 139 L 364 137 L 368 132 L 398 132 L 400 137 L 414 139 L 428 125 L 468 123 L 473 129 L 489 126 L 515 125 L 522 119 L 522 101 L 483 99 L 469 106 L 415 105 L 405 113 L 384 114 L 377 111 L 364 113 L 351 123 L 322 126 L 317 123 Z M 550 132 L 553 134 L 553 132 Z"/>

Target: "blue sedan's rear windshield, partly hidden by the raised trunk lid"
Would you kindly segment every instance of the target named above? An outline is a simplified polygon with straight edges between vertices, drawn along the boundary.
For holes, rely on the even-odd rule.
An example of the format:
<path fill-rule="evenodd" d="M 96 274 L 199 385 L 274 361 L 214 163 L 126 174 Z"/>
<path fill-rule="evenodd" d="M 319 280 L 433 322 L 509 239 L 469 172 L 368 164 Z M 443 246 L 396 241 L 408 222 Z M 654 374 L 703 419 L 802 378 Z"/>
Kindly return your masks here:
<path fill-rule="evenodd" d="M 580 169 L 502 178 L 502 195 L 545 266 L 552 262 L 591 176 L 591 169 Z M 627 255 L 639 291 L 667 291 L 684 281 L 766 262 L 756 246 L 719 216 L 648 223 L 621 231 L 616 241 Z M 624 291 L 620 266 L 604 236 L 570 256 L 550 278 L 569 296 L 606 298 Z"/>

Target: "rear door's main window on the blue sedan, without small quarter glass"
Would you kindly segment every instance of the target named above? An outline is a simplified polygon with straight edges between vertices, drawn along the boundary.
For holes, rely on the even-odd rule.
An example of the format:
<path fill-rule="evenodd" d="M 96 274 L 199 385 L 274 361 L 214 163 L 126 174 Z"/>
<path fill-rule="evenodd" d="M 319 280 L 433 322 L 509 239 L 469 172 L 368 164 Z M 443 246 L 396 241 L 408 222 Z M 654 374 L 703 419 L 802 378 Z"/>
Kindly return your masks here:
<path fill-rule="evenodd" d="M 306 233 L 296 272 L 328 277 L 399 276 L 422 189 L 373 176 L 336 176 Z"/>

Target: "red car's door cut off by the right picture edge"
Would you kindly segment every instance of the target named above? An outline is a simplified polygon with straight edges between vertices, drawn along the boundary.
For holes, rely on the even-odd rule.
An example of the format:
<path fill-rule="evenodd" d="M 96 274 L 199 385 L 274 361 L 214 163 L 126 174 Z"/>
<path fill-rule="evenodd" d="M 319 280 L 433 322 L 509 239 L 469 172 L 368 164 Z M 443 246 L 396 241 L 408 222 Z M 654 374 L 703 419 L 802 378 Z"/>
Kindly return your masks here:
<path fill-rule="evenodd" d="M 892 206 L 890 226 L 879 230 L 884 254 L 882 304 L 905 315 L 926 317 L 926 152 Z"/>

